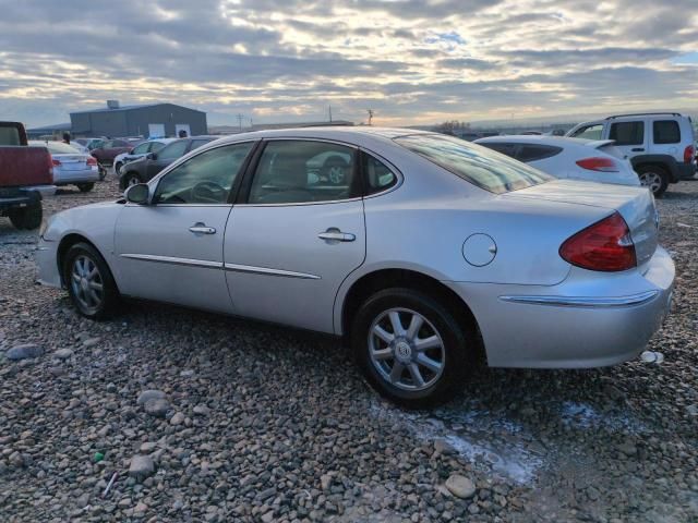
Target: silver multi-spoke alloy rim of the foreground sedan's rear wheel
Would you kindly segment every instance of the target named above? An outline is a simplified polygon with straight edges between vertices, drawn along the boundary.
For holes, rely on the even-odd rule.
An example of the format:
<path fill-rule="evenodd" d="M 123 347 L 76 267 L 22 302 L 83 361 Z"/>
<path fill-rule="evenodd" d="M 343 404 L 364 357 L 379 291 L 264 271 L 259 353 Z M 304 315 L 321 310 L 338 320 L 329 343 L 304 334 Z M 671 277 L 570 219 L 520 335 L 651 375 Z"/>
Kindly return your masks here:
<path fill-rule="evenodd" d="M 390 308 L 375 318 L 369 331 L 369 356 L 381 378 L 406 391 L 432 387 L 446 361 L 440 332 L 409 308 Z"/>

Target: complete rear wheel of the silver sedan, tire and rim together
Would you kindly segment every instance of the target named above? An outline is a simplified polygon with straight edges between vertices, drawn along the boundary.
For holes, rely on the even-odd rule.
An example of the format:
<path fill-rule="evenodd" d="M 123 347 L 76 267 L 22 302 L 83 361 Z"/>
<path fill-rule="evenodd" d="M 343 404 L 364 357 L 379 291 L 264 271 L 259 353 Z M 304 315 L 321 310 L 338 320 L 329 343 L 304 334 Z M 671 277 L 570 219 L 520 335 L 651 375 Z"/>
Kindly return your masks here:
<path fill-rule="evenodd" d="M 387 289 L 369 297 L 352 323 L 353 354 L 371 385 L 421 408 L 448 400 L 474 365 L 474 336 L 432 296 Z"/>

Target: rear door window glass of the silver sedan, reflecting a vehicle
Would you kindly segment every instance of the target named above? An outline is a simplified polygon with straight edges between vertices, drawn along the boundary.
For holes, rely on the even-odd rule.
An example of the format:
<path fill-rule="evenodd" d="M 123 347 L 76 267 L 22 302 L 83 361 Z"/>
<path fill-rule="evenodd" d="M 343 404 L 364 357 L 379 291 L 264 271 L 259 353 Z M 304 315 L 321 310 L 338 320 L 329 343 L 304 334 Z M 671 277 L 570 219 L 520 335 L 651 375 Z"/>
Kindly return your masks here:
<path fill-rule="evenodd" d="M 354 148 L 328 142 L 269 142 L 248 202 L 304 204 L 357 197 L 361 191 L 354 157 Z"/>

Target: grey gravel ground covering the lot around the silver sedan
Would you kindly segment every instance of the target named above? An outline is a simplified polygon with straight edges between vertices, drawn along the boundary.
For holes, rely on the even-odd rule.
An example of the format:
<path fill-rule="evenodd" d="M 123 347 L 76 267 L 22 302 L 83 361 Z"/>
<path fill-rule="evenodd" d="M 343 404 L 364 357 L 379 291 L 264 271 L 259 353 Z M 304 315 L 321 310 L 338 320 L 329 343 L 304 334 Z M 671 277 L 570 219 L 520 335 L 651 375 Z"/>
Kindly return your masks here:
<path fill-rule="evenodd" d="M 659 208 L 663 363 L 483 369 L 432 412 L 382 401 L 335 340 L 157 304 L 81 319 L 34 282 L 36 232 L 0 218 L 0 518 L 698 521 L 698 182 Z"/>

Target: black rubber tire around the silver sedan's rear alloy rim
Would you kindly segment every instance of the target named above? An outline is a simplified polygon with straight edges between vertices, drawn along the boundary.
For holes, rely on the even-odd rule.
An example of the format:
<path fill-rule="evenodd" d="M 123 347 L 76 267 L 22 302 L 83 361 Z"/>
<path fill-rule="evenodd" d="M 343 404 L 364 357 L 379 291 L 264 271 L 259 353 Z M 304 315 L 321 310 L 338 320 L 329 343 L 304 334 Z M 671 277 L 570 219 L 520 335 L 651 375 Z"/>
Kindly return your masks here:
<path fill-rule="evenodd" d="M 390 367 L 389 362 L 393 363 L 392 368 L 398 363 L 397 345 L 400 344 L 400 337 L 394 345 L 383 348 L 383 351 L 394 354 L 394 356 L 385 356 L 385 361 L 374 363 L 371 357 L 371 344 L 375 343 L 377 338 L 373 338 L 373 328 L 376 320 L 384 317 L 388 311 L 399 309 L 400 323 L 405 321 L 404 318 L 410 318 L 411 313 L 418 313 L 425 319 L 423 328 L 426 329 L 428 337 L 430 331 L 434 331 L 441 338 L 443 344 L 442 349 L 437 350 L 438 356 L 434 356 L 433 360 L 443 362 L 441 374 L 430 373 L 426 367 L 420 367 L 421 378 L 424 379 L 424 385 L 421 390 L 407 390 L 406 385 L 394 385 L 390 379 L 385 376 L 386 367 Z M 381 324 L 377 324 L 381 326 Z M 389 329 L 389 326 L 386 327 Z M 409 329 L 407 329 L 409 331 Z M 419 330 L 417 338 L 420 333 L 424 332 Z M 388 332 L 390 333 L 390 332 Z M 395 337 L 394 332 L 393 336 Z M 409 336 L 406 333 L 406 336 Z M 432 296 L 412 289 L 395 288 L 386 289 L 373 294 L 369 297 L 363 305 L 357 312 L 351 324 L 351 346 L 356 362 L 362 369 L 363 374 L 368 378 L 369 382 L 383 396 L 387 397 L 392 401 L 407 406 L 410 409 L 421 409 L 424 406 L 431 406 L 436 403 L 450 400 L 459 386 L 462 386 L 468 373 L 474 368 L 476 365 L 476 329 L 474 326 L 464 328 L 454 317 L 454 315 L 443 306 L 437 300 Z M 408 355 L 401 354 L 402 357 L 407 357 L 410 363 L 406 363 L 404 370 L 399 373 L 397 380 L 401 380 L 407 373 L 407 380 L 411 380 L 412 384 L 417 384 L 414 380 L 414 374 L 408 368 L 412 366 L 416 358 L 420 353 L 416 350 L 416 345 L 408 343 L 412 346 L 411 351 L 408 350 Z M 374 345 L 375 346 L 375 345 Z M 402 343 L 405 346 L 405 343 Z M 425 355 L 432 358 L 433 353 Z M 378 367 L 382 370 L 378 370 Z M 382 374 L 383 373 L 383 374 Z M 430 384 L 430 381 L 432 381 Z M 409 385 L 409 384 L 408 384 Z"/>

